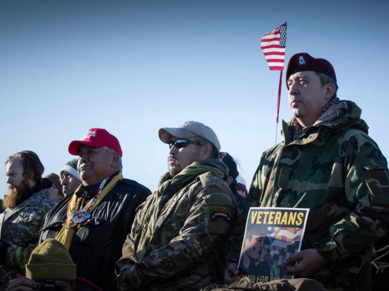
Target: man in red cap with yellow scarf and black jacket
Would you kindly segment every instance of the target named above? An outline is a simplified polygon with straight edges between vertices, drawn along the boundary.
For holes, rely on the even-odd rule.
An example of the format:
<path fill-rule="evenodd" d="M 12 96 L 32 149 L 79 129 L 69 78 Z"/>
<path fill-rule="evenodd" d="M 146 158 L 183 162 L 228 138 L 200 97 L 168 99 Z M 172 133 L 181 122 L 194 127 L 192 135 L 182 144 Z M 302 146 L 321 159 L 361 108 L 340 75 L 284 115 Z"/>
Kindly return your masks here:
<path fill-rule="evenodd" d="M 135 209 L 150 191 L 122 175 L 119 140 L 105 129 L 91 128 L 73 140 L 69 153 L 80 156 L 82 185 L 48 214 L 41 241 L 59 240 L 77 265 L 77 276 L 114 290 L 114 262 L 131 230 Z"/>

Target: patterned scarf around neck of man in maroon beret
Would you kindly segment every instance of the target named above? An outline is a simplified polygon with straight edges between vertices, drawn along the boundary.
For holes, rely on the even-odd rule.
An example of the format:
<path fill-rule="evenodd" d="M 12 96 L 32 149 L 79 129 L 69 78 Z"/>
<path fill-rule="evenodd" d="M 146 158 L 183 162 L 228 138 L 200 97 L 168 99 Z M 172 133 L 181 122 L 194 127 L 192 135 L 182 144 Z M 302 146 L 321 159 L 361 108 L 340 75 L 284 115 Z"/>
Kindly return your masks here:
<path fill-rule="evenodd" d="M 340 101 L 337 97 L 332 98 L 331 101 L 324 107 L 321 116 L 313 126 L 329 123 L 345 116 L 348 112 L 349 110 L 345 101 Z M 292 127 L 293 140 L 300 139 L 304 132 L 302 131 L 303 127 L 298 123 L 297 118 L 292 117 L 289 124 Z"/>

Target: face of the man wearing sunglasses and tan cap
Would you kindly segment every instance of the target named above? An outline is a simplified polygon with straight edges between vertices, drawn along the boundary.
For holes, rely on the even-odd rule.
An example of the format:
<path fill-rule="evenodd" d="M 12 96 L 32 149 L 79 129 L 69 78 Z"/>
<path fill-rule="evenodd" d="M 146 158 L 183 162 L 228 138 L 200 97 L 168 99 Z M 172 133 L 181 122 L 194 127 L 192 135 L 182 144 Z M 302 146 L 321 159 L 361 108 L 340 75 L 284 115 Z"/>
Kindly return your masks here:
<path fill-rule="evenodd" d="M 172 137 L 172 142 L 174 142 L 177 137 Z M 198 140 L 196 137 L 190 138 L 190 140 Z M 174 145 L 169 150 L 169 172 L 172 175 L 177 175 L 187 166 L 193 162 L 203 160 L 202 157 L 202 147 L 197 144 L 188 143 L 186 147 L 177 149 Z"/>

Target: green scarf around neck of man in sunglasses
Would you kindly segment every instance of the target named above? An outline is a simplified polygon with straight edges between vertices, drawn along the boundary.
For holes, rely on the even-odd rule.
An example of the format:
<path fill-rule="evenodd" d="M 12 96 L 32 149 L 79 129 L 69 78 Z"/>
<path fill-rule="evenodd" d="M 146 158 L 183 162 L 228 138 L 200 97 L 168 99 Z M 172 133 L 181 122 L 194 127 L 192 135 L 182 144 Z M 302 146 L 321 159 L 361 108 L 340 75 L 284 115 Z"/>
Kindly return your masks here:
<path fill-rule="evenodd" d="M 151 241 L 157 220 L 160 218 L 166 203 L 175 193 L 190 185 L 199 175 L 207 172 L 211 172 L 222 179 L 228 176 L 228 168 L 224 162 L 219 159 L 207 159 L 190 164 L 175 176 L 168 172 L 161 177 L 158 187 L 152 193 L 152 201 L 143 220 L 144 228 L 142 228 L 136 251 L 138 260 L 142 259 L 146 253 L 146 248 Z"/>

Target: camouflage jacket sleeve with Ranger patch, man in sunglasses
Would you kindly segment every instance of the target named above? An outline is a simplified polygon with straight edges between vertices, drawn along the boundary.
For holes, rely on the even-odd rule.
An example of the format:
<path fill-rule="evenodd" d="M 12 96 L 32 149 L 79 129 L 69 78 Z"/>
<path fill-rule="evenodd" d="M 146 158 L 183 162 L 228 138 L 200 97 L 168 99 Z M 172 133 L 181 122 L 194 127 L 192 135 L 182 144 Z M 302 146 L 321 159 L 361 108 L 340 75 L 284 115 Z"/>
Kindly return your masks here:
<path fill-rule="evenodd" d="M 119 290 L 137 289 L 155 280 L 177 277 L 211 254 L 221 236 L 229 231 L 231 216 L 235 215 L 232 197 L 212 188 L 196 195 L 183 227 L 170 243 L 154 249 L 136 263 L 122 258 Z M 215 211 L 216 205 L 221 206 L 220 213 Z M 132 243 L 131 236 L 126 243 Z M 134 257 L 131 251 L 127 255 Z"/>

